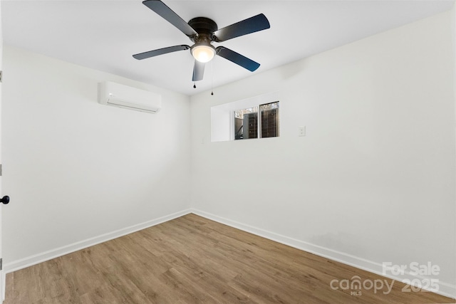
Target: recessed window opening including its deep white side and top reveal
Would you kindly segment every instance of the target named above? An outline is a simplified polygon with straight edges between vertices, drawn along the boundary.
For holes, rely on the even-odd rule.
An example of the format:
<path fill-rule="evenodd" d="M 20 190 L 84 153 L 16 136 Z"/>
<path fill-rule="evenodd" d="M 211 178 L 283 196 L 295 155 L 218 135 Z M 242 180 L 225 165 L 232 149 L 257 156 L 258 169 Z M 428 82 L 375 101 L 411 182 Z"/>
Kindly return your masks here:
<path fill-rule="evenodd" d="M 211 141 L 279 137 L 279 92 L 214 105 L 211 108 Z"/>

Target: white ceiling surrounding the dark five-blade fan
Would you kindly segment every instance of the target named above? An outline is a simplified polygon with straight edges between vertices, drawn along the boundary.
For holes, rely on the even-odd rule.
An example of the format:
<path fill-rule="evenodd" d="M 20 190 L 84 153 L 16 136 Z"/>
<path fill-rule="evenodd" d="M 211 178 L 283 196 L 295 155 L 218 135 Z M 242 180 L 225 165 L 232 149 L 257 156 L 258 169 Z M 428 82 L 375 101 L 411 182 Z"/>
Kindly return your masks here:
<path fill-rule="evenodd" d="M 271 28 L 214 46 L 226 46 L 261 63 L 254 73 L 291 63 L 452 8 L 431 1 L 174 1 L 164 0 L 188 21 L 204 16 L 219 28 L 260 13 Z M 142 61 L 132 55 L 192 42 L 140 0 L 1 0 L 4 43 L 63 61 L 192 95 L 252 72 L 216 56 L 204 80 L 192 88 L 190 51 Z"/>

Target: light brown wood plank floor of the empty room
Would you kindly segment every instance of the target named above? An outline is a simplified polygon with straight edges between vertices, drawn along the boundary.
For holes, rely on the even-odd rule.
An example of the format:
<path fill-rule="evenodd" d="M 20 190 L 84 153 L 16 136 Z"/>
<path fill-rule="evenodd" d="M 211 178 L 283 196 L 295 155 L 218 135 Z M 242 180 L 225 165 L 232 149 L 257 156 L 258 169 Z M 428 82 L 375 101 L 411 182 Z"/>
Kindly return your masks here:
<path fill-rule="evenodd" d="M 331 288 L 353 276 L 392 283 L 188 214 L 9 273 L 4 303 L 455 303 L 398 282 Z"/>

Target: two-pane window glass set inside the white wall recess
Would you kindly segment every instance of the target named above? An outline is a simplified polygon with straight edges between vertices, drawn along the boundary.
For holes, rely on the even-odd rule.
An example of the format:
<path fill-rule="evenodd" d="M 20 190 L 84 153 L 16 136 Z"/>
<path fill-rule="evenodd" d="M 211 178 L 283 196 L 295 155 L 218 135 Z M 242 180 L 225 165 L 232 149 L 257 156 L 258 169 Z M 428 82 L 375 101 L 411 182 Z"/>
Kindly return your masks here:
<path fill-rule="evenodd" d="M 278 136 L 279 101 L 234 111 L 234 140 Z"/>

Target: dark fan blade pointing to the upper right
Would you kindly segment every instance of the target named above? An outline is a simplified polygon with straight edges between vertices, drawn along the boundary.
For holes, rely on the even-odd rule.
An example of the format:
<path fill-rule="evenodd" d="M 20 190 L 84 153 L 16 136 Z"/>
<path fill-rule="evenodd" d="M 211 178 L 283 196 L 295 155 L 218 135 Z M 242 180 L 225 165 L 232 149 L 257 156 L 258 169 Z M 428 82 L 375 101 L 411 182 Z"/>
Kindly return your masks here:
<path fill-rule="evenodd" d="M 263 31 L 270 27 L 271 26 L 269 25 L 269 21 L 266 16 L 264 16 L 264 14 L 259 14 L 257 16 L 250 17 L 249 19 L 234 23 L 231 26 L 220 28 L 218 31 L 214 31 L 213 38 L 214 41 L 222 42 L 227 41 L 228 39 L 247 35 L 248 33 Z"/>

